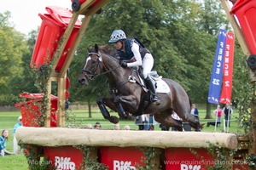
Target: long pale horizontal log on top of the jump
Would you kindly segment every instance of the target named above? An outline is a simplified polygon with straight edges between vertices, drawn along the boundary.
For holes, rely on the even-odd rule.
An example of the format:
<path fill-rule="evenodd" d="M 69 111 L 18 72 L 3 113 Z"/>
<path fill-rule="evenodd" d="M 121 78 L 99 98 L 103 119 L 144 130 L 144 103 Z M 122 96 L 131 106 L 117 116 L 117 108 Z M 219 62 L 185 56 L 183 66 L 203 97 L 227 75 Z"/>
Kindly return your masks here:
<path fill-rule="evenodd" d="M 97 130 L 66 127 L 20 127 L 16 138 L 39 146 L 144 146 L 156 148 L 207 148 L 209 144 L 233 150 L 238 140 L 233 133 Z"/>

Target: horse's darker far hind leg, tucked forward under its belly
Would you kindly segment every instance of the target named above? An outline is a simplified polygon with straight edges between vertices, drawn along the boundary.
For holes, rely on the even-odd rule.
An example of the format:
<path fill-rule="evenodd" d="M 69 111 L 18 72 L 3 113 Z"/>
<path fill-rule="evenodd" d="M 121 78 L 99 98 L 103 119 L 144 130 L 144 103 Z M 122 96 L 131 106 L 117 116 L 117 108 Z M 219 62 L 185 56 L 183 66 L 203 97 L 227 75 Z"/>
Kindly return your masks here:
<path fill-rule="evenodd" d="M 167 127 L 175 127 L 178 131 L 183 131 L 183 124 L 181 121 L 172 118 L 172 110 L 163 111 L 154 114 L 154 120 L 160 122 Z"/>

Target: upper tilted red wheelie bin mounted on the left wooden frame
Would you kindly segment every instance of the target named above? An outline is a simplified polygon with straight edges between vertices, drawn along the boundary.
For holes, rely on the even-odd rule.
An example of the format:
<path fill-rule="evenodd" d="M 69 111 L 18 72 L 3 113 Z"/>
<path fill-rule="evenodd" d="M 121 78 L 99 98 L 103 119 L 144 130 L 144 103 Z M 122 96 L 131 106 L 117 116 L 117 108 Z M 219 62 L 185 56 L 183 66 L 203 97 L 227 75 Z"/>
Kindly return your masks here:
<path fill-rule="evenodd" d="M 42 19 L 42 24 L 38 33 L 38 39 L 32 54 L 31 66 L 39 68 L 40 65 L 49 63 L 52 59 L 58 42 L 67 29 L 69 21 L 72 19 L 72 12 L 67 8 L 50 6 L 46 7 L 49 14 L 38 14 Z M 77 20 L 73 31 L 63 50 L 61 58 L 56 65 L 55 71 L 61 71 L 61 67 L 67 58 L 68 49 L 71 48 L 75 37 L 81 26 L 81 22 Z"/>

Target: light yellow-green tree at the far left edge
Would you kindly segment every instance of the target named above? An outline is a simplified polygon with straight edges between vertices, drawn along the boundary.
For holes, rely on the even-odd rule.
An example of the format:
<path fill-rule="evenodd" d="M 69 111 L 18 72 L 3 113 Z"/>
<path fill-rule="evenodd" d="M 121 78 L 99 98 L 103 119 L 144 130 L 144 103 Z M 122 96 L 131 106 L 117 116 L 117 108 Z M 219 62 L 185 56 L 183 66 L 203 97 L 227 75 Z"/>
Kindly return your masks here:
<path fill-rule="evenodd" d="M 0 14 L 0 104 L 15 102 L 15 88 L 20 83 L 14 84 L 15 78 L 20 77 L 23 68 L 21 56 L 26 53 L 25 36 L 9 23 L 9 11 Z"/>

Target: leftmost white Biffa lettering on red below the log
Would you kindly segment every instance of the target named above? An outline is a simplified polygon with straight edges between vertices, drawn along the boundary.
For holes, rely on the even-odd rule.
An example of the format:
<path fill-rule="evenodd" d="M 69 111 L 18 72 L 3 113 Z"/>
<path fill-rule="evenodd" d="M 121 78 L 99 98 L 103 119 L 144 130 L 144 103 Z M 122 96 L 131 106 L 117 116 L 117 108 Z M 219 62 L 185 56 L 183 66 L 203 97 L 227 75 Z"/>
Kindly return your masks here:
<path fill-rule="evenodd" d="M 70 157 L 55 156 L 55 167 L 57 170 L 75 170 L 76 164 L 70 161 Z"/>

